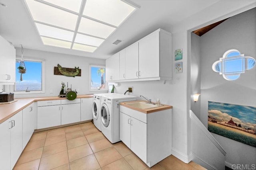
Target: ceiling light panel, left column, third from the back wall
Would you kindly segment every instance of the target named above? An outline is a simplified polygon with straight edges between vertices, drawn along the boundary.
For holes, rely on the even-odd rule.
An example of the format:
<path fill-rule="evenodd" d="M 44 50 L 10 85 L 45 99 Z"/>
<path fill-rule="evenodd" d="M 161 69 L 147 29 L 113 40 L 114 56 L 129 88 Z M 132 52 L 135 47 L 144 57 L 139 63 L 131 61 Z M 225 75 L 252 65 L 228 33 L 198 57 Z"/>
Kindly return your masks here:
<path fill-rule="evenodd" d="M 34 0 L 26 0 L 26 3 L 35 21 L 75 30 L 77 15 Z"/>

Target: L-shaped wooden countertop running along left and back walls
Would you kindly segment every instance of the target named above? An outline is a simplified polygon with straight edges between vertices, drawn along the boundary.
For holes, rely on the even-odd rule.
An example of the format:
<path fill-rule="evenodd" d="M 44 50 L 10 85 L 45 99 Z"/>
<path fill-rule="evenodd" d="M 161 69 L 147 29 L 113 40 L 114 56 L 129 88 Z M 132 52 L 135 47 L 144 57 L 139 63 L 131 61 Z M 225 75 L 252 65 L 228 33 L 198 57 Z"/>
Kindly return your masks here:
<path fill-rule="evenodd" d="M 92 98 L 93 94 L 82 94 L 77 95 L 76 98 Z M 0 105 L 0 123 L 6 121 L 25 107 L 29 106 L 33 102 L 45 101 L 45 100 L 65 100 L 66 98 L 60 98 L 58 96 L 49 96 L 49 97 L 38 97 L 38 98 L 17 98 L 16 102 L 10 104 L 1 104 Z M 66 99 L 67 100 L 67 99 Z"/>

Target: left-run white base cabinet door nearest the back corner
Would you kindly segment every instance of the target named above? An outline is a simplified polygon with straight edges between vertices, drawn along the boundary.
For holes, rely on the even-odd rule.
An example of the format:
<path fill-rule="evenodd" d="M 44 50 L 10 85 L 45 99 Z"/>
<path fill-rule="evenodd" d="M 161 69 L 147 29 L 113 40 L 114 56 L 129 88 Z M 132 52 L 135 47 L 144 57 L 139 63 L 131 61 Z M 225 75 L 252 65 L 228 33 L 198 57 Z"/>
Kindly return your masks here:
<path fill-rule="evenodd" d="M 23 109 L 23 142 L 22 142 L 22 149 L 24 149 L 30 140 L 35 127 L 35 112 L 34 112 L 34 103 Z"/>

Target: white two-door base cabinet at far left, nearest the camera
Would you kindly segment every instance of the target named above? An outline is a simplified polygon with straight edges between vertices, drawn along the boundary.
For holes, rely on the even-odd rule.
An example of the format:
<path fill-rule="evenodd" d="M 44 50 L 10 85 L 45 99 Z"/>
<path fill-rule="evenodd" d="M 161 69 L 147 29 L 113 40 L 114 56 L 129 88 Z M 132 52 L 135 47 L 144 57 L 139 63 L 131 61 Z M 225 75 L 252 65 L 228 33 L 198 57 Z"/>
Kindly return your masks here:
<path fill-rule="evenodd" d="M 11 170 L 22 153 L 22 111 L 0 124 L 0 165 Z"/>

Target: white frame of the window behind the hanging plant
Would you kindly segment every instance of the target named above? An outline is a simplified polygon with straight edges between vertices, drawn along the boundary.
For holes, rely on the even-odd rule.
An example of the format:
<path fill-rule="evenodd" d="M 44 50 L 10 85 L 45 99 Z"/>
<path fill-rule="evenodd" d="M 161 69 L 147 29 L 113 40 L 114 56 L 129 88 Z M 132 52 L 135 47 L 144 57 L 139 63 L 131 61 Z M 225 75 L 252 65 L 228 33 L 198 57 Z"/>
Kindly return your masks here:
<path fill-rule="evenodd" d="M 23 59 L 24 59 L 24 61 L 32 61 L 32 62 L 34 61 L 34 62 L 42 63 L 42 90 L 32 90 L 32 91 L 30 91 L 28 89 L 28 91 L 30 91 L 30 92 L 26 92 L 26 90 L 16 91 L 16 80 L 15 80 L 15 82 L 14 82 L 14 94 L 44 94 L 45 93 L 45 60 L 44 59 L 29 58 L 29 57 L 23 57 Z M 17 60 L 21 60 L 21 57 L 16 56 L 16 61 Z M 17 72 L 15 72 L 15 74 L 17 74 Z M 16 79 L 16 75 L 15 75 L 15 79 Z"/>

